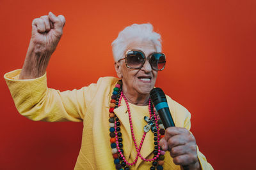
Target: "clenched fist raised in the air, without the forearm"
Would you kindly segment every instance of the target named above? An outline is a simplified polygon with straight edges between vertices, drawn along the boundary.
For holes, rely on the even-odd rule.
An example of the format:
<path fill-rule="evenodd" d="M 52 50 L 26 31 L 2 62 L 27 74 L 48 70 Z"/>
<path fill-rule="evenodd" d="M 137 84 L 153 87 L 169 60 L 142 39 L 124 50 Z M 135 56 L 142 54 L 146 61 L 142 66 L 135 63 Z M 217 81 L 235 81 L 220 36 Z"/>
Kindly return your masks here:
<path fill-rule="evenodd" d="M 65 17 L 63 15 L 56 17 L 52 12 L 35 18 L 32 22 L 31 43 L 36 47 L 40 46 L 36 49 L 37 52 L 54 52 L 62 36 L 64 25 Z"/>

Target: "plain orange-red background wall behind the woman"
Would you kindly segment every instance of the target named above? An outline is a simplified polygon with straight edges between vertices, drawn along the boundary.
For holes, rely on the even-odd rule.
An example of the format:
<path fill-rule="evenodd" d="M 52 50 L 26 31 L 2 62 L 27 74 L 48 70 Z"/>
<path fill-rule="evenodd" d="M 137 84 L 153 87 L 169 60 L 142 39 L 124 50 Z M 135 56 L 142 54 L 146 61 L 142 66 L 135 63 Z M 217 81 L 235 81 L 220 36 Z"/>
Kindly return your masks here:
<path fill-rule="evenodd" d="M 115 76 L 111 42 L 133 23 L 154 25 L 167 65 L 157 87 L 188 108 L 191 131 L 214 169 L 255 167 L 256 1 L 0 1 L 0 169 L 73 169 L 82 123 L 19 115 L 3 74 L 22 67 L 33 18 L 67 22 L 48 86 L 79 89 Z"/>

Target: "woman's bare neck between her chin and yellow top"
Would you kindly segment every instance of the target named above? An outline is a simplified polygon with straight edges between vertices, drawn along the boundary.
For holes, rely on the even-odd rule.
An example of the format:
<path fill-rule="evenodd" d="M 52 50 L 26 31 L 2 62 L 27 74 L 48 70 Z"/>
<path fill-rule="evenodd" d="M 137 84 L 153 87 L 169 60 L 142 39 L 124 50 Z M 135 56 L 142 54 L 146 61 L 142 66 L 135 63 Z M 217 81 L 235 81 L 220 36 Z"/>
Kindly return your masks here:
<path fill-rule="evenodd" d="M 129 103 L 138 105 L 138 106 L 147 106 L 149 100 L 149 94 L 139 94 L 137 92 L 131 93 L 128 92 L 125 87 L 123 87 L 123 94 L 126 97 Z"/>

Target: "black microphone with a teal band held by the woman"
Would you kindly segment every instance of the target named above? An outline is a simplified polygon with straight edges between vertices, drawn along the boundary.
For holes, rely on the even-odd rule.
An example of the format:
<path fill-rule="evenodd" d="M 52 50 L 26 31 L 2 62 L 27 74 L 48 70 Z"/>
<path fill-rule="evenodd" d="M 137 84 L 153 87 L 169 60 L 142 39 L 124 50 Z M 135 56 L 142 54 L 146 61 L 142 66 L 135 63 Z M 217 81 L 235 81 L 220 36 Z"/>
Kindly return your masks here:
<path fill-rule="evenodd" d="M 175 127 L 163 90 L 158 87 L 152 89 L 150 91 L 150 99 L 163 122 L 164 128 Z M 182 168 L 189 170 L 189 166 L 182 166 Z"/>

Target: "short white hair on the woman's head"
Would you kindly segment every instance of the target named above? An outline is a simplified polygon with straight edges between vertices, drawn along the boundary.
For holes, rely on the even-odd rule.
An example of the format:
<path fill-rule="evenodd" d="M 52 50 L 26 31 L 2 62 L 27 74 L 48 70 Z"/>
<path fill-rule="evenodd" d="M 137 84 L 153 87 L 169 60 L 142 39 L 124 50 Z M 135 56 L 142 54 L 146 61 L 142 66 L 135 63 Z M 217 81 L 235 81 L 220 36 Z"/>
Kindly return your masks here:
<path fill-rule="evenodd" d="M 132 24 L 120 31 L 111 44 L 115 62 L 122 59 L 129 43 L 140 39 L 152 41 L 156 45 L 157 52 L 161 52 L 161 35 L 153 31 L 151 24 Z"/>

